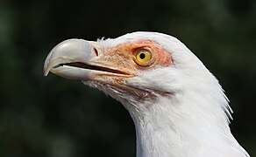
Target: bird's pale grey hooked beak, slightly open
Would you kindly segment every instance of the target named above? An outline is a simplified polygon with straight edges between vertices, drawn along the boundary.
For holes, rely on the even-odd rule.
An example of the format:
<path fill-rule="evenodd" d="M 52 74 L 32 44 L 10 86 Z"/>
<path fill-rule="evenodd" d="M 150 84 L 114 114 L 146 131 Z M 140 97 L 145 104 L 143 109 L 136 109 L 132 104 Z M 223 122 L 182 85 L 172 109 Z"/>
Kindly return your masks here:
<path fill-rule="evenodd" d="M 115 66 L 105 65 L 97 50 L 96 42 L 83 39 L 68 39 L 57 44 L 48 54 L 43 74 L 49 72 L 69 79 L 89 80 L 98 76 L 127 77 L 128 72 L 120 71 Z"/>

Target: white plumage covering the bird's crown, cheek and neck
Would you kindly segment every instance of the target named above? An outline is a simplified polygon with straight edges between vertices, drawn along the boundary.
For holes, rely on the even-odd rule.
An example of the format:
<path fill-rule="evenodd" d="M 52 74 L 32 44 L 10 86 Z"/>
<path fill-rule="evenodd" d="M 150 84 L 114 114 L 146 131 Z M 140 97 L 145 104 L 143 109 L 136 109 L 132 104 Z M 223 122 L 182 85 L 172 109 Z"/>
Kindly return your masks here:
<path fill-rule="evenodd" d="M 178 39 L 155 32 L 134 32 L 100 42 L 113 47 L 140 39 L 160 44 L 172 54 L 174 65 L 140 72 L 126 85 L 174 94 L 140 100 L 110 86 L 97 86 L 131 113 L 137 156 L 248 157 L 231 134 L 231 108 L 217 78 Z"/>

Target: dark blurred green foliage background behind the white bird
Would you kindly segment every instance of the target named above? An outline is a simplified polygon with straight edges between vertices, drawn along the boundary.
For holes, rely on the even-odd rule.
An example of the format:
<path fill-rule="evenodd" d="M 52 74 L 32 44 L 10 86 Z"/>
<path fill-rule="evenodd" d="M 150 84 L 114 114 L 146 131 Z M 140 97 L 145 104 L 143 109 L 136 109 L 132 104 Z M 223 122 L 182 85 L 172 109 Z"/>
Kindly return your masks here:
<path fill-rule="evenodd" d="M 80 82 L 42 76 L 67 38 L 160 31 L 203 60 L 231 99 L 231 130 L 256 156 L 256 1 L 0 1 L 0 156 L 135 156 L 132 119 Z"/>

